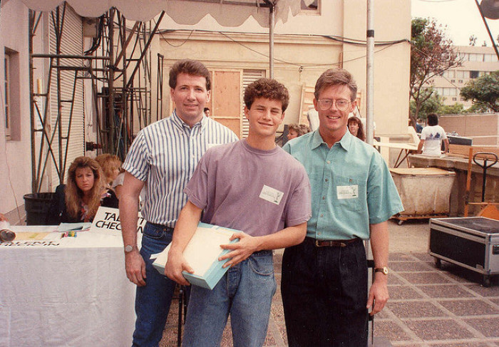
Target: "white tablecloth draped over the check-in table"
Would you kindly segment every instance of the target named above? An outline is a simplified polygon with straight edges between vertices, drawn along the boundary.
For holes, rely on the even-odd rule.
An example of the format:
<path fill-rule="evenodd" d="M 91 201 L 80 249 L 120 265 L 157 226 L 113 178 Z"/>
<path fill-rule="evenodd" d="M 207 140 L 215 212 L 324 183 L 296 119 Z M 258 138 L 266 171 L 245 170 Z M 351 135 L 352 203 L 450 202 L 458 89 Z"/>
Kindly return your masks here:
<path fill-rule="evenodd" d="M 0 246 L 0 346 L 130 346 L 134 299 L 120 237 Z"/>

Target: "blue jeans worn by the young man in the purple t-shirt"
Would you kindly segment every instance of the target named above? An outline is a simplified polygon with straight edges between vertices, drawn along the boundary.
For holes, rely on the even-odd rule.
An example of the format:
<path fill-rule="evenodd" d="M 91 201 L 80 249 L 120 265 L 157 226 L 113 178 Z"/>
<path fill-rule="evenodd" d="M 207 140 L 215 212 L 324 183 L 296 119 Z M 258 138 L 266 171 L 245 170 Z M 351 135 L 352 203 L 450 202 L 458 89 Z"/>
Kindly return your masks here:
<path fill-rule="evenodd" d="M 182 346 L 220 346 L 229 314 L 233 346 L 262 346 L 275 290 L 272 251 L 232 266 L 212 290 L 192 286 Z"/>

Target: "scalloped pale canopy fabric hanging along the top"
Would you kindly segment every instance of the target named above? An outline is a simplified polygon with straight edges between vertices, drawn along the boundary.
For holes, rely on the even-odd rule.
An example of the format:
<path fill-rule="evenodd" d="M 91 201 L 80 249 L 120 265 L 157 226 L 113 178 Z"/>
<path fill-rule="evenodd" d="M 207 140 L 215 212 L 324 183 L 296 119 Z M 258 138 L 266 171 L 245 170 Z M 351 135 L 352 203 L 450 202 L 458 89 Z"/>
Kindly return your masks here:
<path fill-rule="evenodd" d="M 29 9 L 35 11 L 52 11 L 63 4 L 61 0 L 21 0 Z M 303 0 L 309 5 L 314 0 Z M 4 5 L 4 1 L 1 1 Z M 98 17 L 111 7 L 118 9 L 126 19 L 132 21 L 149 21 L 165 11 L 178 24 L 197 24 L 210 14 L 222 26 L 240 26 L 249 16 L 253 16 L 260 26 L 269 26 L 269 10 L 258 6 L 262 0 L 231 0 L 218 3 L 209 0 L 67 0 L 77 14 L 83 17 Z M 291 11 L 292 16 L 298 14 L 301 0 L 274 0 L 275 19 L 285 23 Z"/>

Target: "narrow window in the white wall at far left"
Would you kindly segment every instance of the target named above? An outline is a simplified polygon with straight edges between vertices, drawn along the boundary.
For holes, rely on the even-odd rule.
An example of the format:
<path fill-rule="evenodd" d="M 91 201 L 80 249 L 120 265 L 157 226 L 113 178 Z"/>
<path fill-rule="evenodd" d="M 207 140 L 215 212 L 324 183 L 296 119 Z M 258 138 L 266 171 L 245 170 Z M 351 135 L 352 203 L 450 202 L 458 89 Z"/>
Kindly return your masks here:
<path fill-rule="evenodd" d="M 4 111 L 5 135 L 7 140 L 21 140 L 20 95 L 19 95 L 19 53 L 4 49 Z"/>

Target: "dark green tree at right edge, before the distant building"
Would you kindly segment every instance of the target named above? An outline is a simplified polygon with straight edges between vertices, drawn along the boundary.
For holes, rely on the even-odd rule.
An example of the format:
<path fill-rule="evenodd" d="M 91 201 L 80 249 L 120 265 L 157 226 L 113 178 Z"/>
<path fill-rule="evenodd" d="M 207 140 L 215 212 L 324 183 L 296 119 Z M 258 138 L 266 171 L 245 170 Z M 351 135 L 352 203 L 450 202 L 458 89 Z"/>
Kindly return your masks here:
<path fill-rule="evenodd" d="M 464 100 L 472 100 L 477 108 L 499 112 L 499 70 L 468 81 L 461 88 Z"/>

